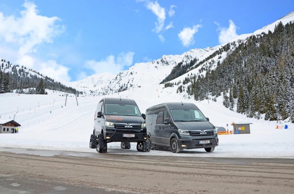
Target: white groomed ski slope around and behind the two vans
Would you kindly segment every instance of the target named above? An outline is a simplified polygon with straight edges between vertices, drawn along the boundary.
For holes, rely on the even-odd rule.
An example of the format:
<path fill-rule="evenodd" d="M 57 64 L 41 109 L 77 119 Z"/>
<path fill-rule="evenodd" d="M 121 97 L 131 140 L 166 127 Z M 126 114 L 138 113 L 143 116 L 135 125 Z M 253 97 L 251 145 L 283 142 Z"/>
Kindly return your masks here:
<path fill-rule="evenodd" d="M 250 121 L 251 134 L 219 135 L 219 146 L 212 153 L 204 149 L 183 150 L 179 154 L 169 151 L 151 150 L 137 152 L 136 143 L 130 150 L 120 148 L 119 142 L 108 144 L 108 153 L 138 154 L 158 156 L 200 156 L 200 157 L 249 157 L 249 158 L 294 158 L 294 125 L 286 123 L 289 129 L 275 129 L 276 122 L 249 119 L 242 114 L 230 111 L 222 105 L 222 97 L 213 101 L 194 101 L 184 99 L 183 94 L 175 93 L 176 87 L 162 89 L 150 85 L 131 88 L 120 92 L 121 98 L 136 101 L 141 113 L 146 108 L 163 102 L 192 102 L 218 127 L 232 130 L 232 122 Z M 93 132 L 93 119 L 98 101 L 103 96 L 76 97 L 69 95 L 66 106 L 63 93 L 47 91 L 48 95 L 0 94 L 0 121 L 15 121 L 21 124 L 18 134 L 0 134 L 0 147 L 50 149 L 75 152 L 96 152 L 89 148 L 90 135 Z M 60 95 L 60 96 L 59 96 Z M 112 97 L 119 97 L 115 93 Z M 50 113 L 51 111 L 51 113 Z M 284 123 L 285 124 L 285 123 Z M 282 125 L 282 124 L 279 124 Z M 99 154 L 99 153 L 97 153 Z"/>

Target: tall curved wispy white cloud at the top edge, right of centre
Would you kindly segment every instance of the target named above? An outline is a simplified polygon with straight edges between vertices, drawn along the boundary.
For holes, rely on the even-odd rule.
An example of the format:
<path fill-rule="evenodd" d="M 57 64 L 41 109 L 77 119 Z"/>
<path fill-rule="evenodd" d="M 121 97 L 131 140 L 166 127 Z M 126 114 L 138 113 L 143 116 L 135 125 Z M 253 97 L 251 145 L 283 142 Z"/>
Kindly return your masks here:
<path fill-rule="evenodd" d="M 157 16 L 157 22 L 155 22 L 155 32 L 159 33 L 163 30 L 164 26 L 164 20 L 166 18 L 165 9 L 161 7 L 157 1 L 155 3 L 148 2 L 146 4 L 146 8 L 150 9 L 156 16 Z"/>

